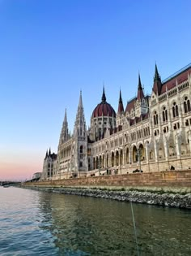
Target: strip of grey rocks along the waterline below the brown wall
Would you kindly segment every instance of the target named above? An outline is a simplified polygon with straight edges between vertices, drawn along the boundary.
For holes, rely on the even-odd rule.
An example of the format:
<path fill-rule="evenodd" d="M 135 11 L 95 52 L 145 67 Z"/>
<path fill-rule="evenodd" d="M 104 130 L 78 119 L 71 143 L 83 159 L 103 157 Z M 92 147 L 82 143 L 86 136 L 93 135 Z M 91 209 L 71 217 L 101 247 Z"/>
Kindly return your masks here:
<path fill-rule="evenodd" d="M 40 187 L 23 186 L 24 189 L 35 189 L 53 193 L 65 193 L 84 197 L 100 197 L 121 202 L 137 202 L 149 205 L 179 207 L 191 209 L 191 193 L 165 191 L 163 189 L 124 189 L 124 188 L 74 188 L 74 187 Z"/>

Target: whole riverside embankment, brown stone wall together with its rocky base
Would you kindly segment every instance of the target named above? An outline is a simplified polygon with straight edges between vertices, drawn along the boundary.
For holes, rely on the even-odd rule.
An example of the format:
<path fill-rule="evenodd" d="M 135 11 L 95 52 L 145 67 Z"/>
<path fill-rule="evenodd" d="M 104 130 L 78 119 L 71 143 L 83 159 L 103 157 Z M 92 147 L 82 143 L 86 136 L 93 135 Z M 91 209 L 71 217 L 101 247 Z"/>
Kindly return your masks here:
<path fill-rule="evenodd" d="M 27 182 L 24 189 L 191 209 L 191 171 Z"/>

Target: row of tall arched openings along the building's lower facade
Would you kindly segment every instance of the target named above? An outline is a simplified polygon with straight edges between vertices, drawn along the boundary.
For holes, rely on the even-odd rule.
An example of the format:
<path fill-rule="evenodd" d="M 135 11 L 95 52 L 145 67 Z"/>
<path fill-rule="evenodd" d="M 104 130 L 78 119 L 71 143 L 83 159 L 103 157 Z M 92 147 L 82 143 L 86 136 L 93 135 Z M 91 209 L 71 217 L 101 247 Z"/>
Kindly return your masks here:
<path fill-rule="evenodd" d="M 106 150 L 97 154 L 93 158 L 93 169 L 103 169 L 112 167 L 129 167 L 137 163 L 169 161 L 171 158 L 180 159 L 183 155 L 182 141 L 180 136 L 176 136 L 173 143 L 169 138 L 164 137 L 163 141 L 146 141 L 138 145 L 126 145 L 111 151 Z M 185 149 L 185 154 L 191 154 L 191 132 L 189 136 L 189 150 Z"/>

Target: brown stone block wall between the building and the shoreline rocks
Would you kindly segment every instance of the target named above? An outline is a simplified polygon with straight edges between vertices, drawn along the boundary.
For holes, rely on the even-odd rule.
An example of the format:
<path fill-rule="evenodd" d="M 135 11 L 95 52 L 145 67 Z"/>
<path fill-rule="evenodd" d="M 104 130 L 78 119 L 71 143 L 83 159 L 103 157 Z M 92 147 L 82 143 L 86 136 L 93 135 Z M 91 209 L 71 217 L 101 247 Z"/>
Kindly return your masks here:
<path fill-rule="evenodd" d="M 36 183 L 28 182 L 28 185 L 50 187 L 191 187 L 191 170 L 185 171 L 156 171 L 114 176 L 92 176 L 67 180 L 47 180 Z"/>

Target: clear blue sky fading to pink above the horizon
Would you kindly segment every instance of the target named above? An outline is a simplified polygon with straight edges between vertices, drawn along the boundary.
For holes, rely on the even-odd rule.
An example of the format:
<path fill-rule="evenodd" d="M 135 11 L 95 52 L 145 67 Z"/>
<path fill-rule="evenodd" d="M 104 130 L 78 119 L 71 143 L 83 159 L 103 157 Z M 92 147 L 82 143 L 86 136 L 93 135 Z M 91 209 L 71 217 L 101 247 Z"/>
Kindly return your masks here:
<path fill-rule="evenodd" d="M 42 170 L 57 152 L 65 108 L 71 132 L 83 92 L 87 126 L 100 102 L 117 110 L 140 72 L 151 93 L 190 63 L 191 1 L 0 0 L 0 180 Z"/>

